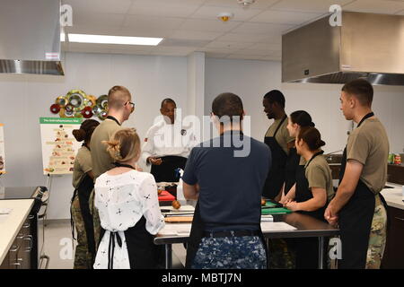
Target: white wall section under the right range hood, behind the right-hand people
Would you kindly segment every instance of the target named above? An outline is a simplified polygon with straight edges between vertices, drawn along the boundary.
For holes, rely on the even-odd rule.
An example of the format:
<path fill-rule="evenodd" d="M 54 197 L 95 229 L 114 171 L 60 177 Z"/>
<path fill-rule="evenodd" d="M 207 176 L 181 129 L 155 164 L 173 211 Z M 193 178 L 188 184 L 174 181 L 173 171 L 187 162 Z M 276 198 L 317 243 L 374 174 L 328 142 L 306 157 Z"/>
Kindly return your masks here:
<path fill-rule="evenodd" d="M 283 91 L 286 113 L 307 110 L 321 131 L 326 152 L 345 147 L 349 122 L 339 110 L 340 84 L 281 83 L 281 64 L 269 61 L 206 58 L 205 114 L 219 93 L 231 91 L 242 98 L 251 117 L 251 135 L 259 140 L 272 121 L 263 112 L 262 98 L 272 89 Z M 391 152 L 404 148 L 404 87 L 375 86 L 373 110 L 387 129 Z"/>

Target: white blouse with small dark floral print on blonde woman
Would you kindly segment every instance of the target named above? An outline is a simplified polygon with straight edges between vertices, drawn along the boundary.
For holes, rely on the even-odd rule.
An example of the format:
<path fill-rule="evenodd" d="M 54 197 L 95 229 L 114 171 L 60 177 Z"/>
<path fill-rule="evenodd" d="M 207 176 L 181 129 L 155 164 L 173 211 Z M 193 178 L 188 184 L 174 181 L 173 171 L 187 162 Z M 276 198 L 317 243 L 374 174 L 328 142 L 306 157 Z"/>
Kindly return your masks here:
<path fill-rule="evenodd" d="M 146 230 L 155 235 L 164 227 L 157 187 L 153 175 L 130 170 L 119 175 L 103 173 L 95 181 L 94 204 L 100 214 L 101 227 L 106 230 L 95 258 L 94 269 L 109 267 L 111 232 L 118 232 L 122 246 L 116 245 L 113 256 L 114 269 L 129 269 L 127 243 L 124 231 L 136 225 L 145 216 Z"/>

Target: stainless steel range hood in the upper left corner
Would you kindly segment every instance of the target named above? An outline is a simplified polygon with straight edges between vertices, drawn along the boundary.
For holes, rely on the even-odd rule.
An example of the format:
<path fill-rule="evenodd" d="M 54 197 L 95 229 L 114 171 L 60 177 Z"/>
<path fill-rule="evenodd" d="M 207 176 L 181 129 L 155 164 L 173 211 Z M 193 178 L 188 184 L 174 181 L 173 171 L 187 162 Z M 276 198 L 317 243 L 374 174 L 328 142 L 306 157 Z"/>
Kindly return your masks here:
<path fill-rule="evenodd" d="M 1 0 L 0 73 L 64 74 L 60 1 Z"/>

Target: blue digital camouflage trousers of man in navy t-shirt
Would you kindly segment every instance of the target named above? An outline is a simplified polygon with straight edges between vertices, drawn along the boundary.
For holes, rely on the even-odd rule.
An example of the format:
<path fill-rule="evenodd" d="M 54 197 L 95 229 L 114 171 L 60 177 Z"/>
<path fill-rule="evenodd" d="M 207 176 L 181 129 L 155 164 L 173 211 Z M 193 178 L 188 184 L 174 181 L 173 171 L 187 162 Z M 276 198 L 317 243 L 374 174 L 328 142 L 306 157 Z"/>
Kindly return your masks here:
<path fill-rule="evenodd" d="M 192 264 L 192 269 L 265 268 L 267 257 L 258 236 L 203 238 Z"/>

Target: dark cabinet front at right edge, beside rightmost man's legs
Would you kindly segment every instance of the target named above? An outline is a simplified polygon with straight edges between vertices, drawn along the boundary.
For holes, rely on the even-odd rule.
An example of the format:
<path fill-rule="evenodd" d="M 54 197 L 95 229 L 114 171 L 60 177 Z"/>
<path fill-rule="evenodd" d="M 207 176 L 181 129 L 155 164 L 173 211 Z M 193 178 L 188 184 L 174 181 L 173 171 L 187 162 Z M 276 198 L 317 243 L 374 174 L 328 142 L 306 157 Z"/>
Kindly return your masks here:
<path fill-rule="evenodd" d="M 404 268 L 404 210 L 389 207 L 389 229 L 382 267 Z"/>

